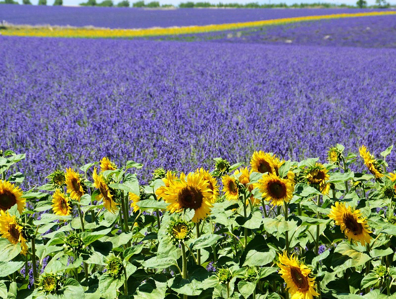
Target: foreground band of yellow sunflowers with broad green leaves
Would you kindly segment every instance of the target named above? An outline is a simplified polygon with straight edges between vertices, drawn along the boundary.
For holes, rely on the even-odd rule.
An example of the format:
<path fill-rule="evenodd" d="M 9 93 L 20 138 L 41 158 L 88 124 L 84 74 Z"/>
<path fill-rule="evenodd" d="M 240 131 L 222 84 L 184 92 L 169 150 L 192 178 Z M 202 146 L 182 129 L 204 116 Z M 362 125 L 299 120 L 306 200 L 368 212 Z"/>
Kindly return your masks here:
<path fill-rule="evenodd" d="M 392 149 L 260 150 L 147 185 L 102 157 L 26 191 L 25 154 L 1 152 L 0 298 L 396 298 Z"/>

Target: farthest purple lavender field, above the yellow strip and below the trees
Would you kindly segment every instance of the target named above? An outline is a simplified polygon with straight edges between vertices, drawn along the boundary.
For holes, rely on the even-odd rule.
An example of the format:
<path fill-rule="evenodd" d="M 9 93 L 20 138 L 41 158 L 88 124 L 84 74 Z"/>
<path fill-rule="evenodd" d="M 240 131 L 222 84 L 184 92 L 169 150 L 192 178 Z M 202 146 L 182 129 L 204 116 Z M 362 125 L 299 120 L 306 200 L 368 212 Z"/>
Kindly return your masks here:
<path fill-rule="evenodd" d="M 13 24 L 70 25 L 109 28 L 149 28 L 250 22 L 381 9 L 142 9 L 121 7 L 62 7 L 1 5 L 0 20 Z"/>

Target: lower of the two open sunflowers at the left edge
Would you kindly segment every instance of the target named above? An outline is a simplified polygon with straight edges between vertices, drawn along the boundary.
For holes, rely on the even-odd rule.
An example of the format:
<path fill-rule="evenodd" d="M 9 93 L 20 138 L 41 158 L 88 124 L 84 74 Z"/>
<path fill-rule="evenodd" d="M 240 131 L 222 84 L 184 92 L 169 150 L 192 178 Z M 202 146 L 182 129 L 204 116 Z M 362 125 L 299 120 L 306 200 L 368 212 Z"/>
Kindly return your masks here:
<path fill-rule="evenodd" d="M 0 233 L 1 237 L 8 239 L 11 244 L 21 243 L 21 253 L 26 255 L 28 246 L 23 233 L 23 227 L 19 224 L 15 215 L 11 216 L 8 211 L 0 210 Z"/>

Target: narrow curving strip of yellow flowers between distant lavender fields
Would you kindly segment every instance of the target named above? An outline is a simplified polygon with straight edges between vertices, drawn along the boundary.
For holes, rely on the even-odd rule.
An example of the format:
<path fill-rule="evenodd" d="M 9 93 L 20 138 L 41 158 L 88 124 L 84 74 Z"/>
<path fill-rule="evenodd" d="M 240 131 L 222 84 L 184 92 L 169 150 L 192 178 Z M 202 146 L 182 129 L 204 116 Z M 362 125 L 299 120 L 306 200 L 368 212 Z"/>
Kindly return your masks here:
<path fill-rule="evenodd" d="M 1 30 L 2 35 L 7 36 L 35 36 L 35 37 L 65 37 L 65 38 L 134 38 L 148 36 L 182 35 L 214 31 L 235 30 L 248 27 L 261 27 L 280 25 L 303 21 L 316 21 L 326 19 L 396 15 L 396 11 L 374 11 L 361 13 L 340 13 L 319 16 L 304 16 L 293 18 L 281 18 L 252 22 L 228 23 L 203 26 L 144 28 L 144 29 L 109 29 L 109 28 L 85 28 L 85 27 L 32 27 L 10 26 Z"/>

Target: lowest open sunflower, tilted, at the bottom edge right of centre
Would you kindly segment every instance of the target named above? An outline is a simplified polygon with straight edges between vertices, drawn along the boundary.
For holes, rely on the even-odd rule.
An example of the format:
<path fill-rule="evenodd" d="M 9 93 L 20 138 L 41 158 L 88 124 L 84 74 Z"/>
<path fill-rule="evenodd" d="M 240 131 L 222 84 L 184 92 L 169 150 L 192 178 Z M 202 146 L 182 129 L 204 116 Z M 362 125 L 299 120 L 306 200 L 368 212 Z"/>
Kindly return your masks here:
<path fill-rule="evenodd" d="M 299 263 L 294 254 L 290 257 L 286 251 L 279 254 L 278 267 L 281 268 L 279 274 L 285 280 L 292 299 L 313 299 L 313 296 L 319 295 L 315 291 L 314 278 L 309 277 L 311 270 Z"/>

